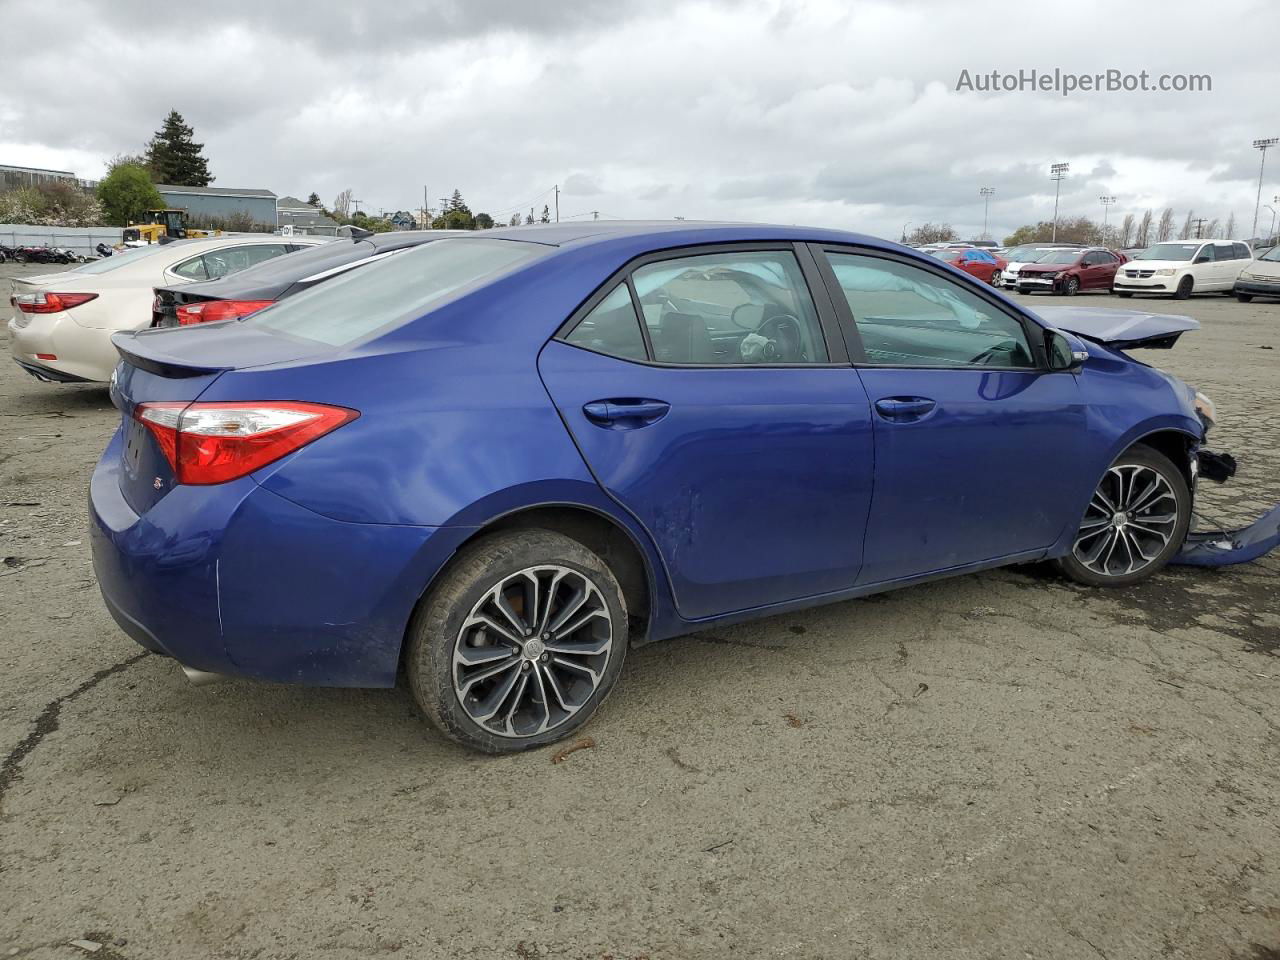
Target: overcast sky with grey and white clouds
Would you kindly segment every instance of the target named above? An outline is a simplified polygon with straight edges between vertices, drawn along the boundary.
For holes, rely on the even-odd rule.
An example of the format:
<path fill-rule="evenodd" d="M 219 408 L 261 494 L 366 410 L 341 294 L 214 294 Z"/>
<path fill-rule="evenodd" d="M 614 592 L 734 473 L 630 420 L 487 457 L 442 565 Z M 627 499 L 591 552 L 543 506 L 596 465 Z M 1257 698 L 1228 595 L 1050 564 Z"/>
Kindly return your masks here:
<path fill-rule="evenodd" d="M 166 111 L 219 187 L 361 209 L 458 188 L 498 219 L 772 220 L 897 237 L 1171 205 L 1253 221 L 1280 136 L 1280 3 L 0 0 L 0 163 L 97 178 Z M 1210 74 L 1211 92 L 982 93 L 1019 69 Z M 1271 151 L 1262 202 L 1280 193 Z M 1270 223 L 1262 211 L 1262 227 Z"/>

